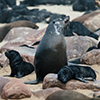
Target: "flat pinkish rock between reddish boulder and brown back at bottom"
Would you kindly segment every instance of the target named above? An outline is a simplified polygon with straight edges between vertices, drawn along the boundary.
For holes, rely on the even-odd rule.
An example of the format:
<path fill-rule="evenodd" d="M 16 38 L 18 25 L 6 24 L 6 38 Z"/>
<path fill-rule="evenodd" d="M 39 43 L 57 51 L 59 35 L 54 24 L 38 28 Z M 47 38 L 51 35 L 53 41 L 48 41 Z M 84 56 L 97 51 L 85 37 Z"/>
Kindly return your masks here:
<path fill-rule="evenodd" d="M 61 91 L 61 90 L 62 89 L 60 89 L 58 87 L 54 87 L 54 88 L 48 88 L 48 89 L 39 90 L 39 91 L 32 91 L 32 94 L 38 98 L 46 99 L 46 97 L 49 96 L 50 94 L 52 94 L 56 91 Z"/>

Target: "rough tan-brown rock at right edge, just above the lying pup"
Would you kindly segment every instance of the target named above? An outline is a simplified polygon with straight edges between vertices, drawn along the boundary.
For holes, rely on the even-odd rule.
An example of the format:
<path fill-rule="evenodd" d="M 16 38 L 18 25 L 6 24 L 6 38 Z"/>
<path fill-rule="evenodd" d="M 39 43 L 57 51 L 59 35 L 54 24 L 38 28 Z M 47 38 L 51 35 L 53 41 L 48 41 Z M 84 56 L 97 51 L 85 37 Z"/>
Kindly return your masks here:
<path fill-rule="evenodd" d="M 100 63 L 100 50 L 93 49 L 82 55 L 80 62 L 83 64 L 93 65 Z"/>

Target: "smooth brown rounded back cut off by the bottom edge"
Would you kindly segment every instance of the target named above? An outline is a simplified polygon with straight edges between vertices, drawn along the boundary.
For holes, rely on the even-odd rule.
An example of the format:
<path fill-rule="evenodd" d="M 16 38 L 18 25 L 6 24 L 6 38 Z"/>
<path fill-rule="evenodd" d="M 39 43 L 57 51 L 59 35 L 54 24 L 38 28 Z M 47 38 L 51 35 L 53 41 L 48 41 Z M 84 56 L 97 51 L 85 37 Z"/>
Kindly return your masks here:
<path fill-rule="evenodd" d="M 100 98 L 90 98 L 76 91 L 57 91 L 50 94 L 46 100 L 100 100 Z"/>

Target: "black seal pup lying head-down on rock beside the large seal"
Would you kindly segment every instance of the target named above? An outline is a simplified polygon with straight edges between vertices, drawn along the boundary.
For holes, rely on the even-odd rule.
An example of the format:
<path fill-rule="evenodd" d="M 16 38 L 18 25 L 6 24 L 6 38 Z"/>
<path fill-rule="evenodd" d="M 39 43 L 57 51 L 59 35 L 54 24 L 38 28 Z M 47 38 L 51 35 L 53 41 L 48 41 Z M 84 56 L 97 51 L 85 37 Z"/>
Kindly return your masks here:
<path fill-rule="evenodd" d="M 88 83 L 86 80 L 95 81 L 96 73 L 89 66 L 81 66 L 77 64 L 64 66 L 58 72 L 58 80 L 60 80 L 62 83 L 67 83 L 71 79 L 76 79 L 81 82 Z"/>

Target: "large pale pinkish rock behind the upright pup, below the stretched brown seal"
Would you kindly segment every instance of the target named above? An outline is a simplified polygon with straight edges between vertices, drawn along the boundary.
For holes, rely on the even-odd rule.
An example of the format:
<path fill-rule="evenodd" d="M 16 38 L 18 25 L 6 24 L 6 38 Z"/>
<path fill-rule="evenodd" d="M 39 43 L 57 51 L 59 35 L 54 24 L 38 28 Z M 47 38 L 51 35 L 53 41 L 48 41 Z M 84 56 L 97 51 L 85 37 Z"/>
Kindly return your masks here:
<path fill-rule="evenodd" d="M 14 49 L 21 45 L 32 46 L 32 44 L 42 39 L 44 33 L 45 29 L 33 30 L 25 27 L 14 28 L 4 38 L 4 41 L 8 42 L 1 47 L 1 51 L 8 48 Z"/>

